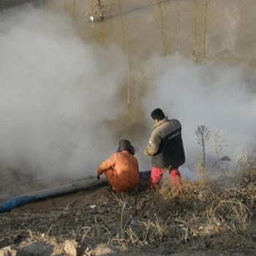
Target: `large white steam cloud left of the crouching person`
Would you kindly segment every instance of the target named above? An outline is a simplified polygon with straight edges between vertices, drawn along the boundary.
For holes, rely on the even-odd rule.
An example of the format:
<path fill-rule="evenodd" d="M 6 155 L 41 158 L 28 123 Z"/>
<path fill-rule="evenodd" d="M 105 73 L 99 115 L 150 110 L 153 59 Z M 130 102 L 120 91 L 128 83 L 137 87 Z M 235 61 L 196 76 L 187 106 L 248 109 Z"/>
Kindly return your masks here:
<path fill-rule="evenodd" d="M 121 110 L 112 99 L 123 55 L 86 45 L 74 31 L 67 17 L 31 7 L 1 18 L 1 167 L 79 177 L 112 153 L 104 121 Z"/>

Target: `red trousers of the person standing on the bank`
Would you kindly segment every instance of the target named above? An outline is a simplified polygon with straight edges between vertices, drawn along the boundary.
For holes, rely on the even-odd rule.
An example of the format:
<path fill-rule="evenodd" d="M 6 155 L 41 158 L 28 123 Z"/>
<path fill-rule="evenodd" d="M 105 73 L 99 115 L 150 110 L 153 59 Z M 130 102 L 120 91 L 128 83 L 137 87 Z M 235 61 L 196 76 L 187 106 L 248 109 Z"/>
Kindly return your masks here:
<path fill-rule="evenodd" d="M 159 181 L 161 180 L 162 175 L 164 173 L 165 173 L 165 170 L 158 169 L 152 166 L 151 177 L 149 180 L 148 187 L 150 189 L 154 189 L 154 187 L 156 187 L 156 185 L 159 184 Z M 176 187 L 179 184 L 181 184 L 181 173 L 178 171 L 178 168 L 169 170 L 169 173 L 170 173 L 170 180 L 172 181 L 173 186 Z"/>

